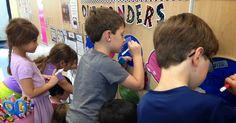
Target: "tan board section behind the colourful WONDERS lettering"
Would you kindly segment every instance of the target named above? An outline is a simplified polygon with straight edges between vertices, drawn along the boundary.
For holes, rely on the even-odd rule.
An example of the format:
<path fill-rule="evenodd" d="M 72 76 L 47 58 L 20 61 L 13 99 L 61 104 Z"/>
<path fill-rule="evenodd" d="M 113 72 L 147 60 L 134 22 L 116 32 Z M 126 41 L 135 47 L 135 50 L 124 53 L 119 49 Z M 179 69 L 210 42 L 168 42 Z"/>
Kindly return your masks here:
<path fill-rule="evenodd" d="M 121 15 L 126 22 L 125 35 L 133 35 L 140 41 L 143 50 L 144 62 L 147 63 L 150 53 L 154 50 L 153 32 L 157 23 L 161 21 L 161 14 L 164 14 L 164 19 L 168 19 L 172 15 L 188 12 L 189 0 L 81 0 L 79 2 L 79 8 L 81 10 L 79 11 L 79 16 L 80 23 L 82 24 L 80 31 L 82 32 L 83 36 L 86 36 L 84 22 L 89 14 L 89 10 L 101 6 L 110 7 L 118 11 L 118 13 L 123 13 L 123 15 Z M 139 10 L 137 10 L 137 8 L 139 8 Z M 128 22 L 128 11 L 131 9 L 134 13 L 134 20 L 132 22 Z M 161 13 L 158 13 L 158 9 L 159 12 L 161 11 Z M 139 17 L 137 11 L 139 11 L 141 14 Z M 150 26 L 150 24 L 147 24 L 149 21 L 146 22 L 146 24 L 144 24 L 144 22 L 145 17 L 150 14 L 149 12 L 151 11 L 153 11 L 153 15 L 150 19 Z M 141 20 L 141 22 L 138 21 L 138 19 Z M 157 83 L 151 76 L 149 78 L 150 87 L 154 88 Z"/>

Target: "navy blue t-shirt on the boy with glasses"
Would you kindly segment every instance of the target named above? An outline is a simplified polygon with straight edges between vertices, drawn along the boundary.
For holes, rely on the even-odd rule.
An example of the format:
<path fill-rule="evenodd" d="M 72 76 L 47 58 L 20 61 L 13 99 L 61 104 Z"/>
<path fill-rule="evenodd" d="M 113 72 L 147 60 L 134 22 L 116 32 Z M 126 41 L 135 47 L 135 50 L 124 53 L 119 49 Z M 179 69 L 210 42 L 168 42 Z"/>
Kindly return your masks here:
<path fill-rule="evenodd" d="M 138 123 L 236 123 L 236 110 L 219 97 L 184 86 L 148 91 L 138 105 Z"/>

